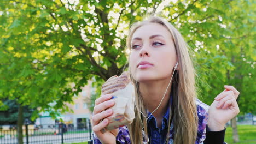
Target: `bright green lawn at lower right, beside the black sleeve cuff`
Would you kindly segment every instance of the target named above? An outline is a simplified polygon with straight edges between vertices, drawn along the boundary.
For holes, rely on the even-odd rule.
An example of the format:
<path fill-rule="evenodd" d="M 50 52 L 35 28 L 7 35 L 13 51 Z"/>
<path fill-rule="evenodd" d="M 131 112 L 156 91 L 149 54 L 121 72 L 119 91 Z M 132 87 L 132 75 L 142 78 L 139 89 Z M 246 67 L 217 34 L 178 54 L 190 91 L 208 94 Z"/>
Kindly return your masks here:
<path fill-rule="evenodd" d="M 255 144 L 256 125 L 237 125 L 240 142 L 234 143 L 232 139 L 232 128 L 226 128 L 225 142 L 228 144 Z"/>

